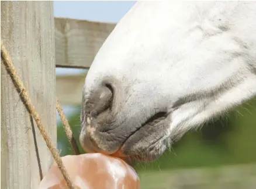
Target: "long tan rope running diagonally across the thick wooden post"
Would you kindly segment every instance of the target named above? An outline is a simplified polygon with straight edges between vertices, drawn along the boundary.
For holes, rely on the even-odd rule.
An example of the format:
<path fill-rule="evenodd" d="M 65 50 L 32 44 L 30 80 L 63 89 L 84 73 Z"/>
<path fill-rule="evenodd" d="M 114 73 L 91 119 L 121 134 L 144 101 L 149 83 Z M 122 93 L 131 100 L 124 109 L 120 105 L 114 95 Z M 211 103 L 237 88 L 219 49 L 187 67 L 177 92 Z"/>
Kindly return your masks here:
<path fill-rule="evenodd" d="M 8 55 L 8 52 L 6 51 L 4 44 L 2 44 L 2 41 L 1 41 L 1 58 L 3 60 L 3 63 L 6 67 L 7 72 L 9 73 L 9 75 L 13 81 L 13 84 L 15 85 L 16 89 L 20 93 L 20 98 L 22 99 L 28 112 L 33 116 L 34 120 L 36 121 L 37 127 L 40 130 L 40 133 L 43 136 L 44 140 L 46 141 L 46 145 L 49 148 L 51 155 L 53 156 L 58 167 L 60 168 L 61 173 L 63 174 L 63 177 L 64 177 L 65 181 L 67 182 L 68 187 L 70 189 L 75 189 L 74 185 L 72 184 L 72 182 L 70 180 L 70 177 L 68 176 L 67 170 L 65 169 L 63 162 L 61 161 L 60 155 L 58 154 L 58 150 L 56 147 L 54 147 L 47 131 L 44 129 L 44 125 L 43 125 L 43 123 L 41 123 L 40 116 L 36 112 L 36 109 L 34 108 L 32 102 L 29 98 L 29 95 L 27 94 L 26 88 L 24 87 L 22 81 L 20 80 L 10 56 Z"/>

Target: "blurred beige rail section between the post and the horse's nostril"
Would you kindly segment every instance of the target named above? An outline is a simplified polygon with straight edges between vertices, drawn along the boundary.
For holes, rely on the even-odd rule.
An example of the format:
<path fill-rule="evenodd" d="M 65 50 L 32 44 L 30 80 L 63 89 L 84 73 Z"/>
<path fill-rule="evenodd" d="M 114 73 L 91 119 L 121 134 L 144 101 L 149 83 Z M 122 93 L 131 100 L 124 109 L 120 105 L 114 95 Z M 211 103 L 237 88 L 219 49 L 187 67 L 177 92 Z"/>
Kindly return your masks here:
<path fill-rule="evenodd" d="M 81 105 L 86 74 L 56 77 L 56 95 L 62 105 Z"/>

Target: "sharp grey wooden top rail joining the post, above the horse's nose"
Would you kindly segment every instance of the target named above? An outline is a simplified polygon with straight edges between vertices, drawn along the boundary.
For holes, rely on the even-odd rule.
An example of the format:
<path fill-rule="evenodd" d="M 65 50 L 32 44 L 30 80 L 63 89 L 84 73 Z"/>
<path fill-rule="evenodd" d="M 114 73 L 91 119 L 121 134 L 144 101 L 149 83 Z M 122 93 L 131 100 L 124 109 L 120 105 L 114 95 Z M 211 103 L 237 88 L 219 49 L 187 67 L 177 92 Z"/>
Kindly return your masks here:
<path fill-rule="evenodd" d="M 56 66 L 88 68 L 115 24 L 55 18 Z"/>

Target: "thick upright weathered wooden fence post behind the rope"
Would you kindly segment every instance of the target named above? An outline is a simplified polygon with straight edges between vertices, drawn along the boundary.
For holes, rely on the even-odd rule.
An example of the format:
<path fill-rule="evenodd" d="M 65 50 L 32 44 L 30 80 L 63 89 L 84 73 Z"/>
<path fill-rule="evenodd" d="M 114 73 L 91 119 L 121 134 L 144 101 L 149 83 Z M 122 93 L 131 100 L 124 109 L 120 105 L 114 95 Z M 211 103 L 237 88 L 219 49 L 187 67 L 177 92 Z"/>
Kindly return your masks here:
<path fill-rule="evenodd" d="M 57 144 L 53 1 L 1 1 L 1 41 Z M 46 142 L 1 63 L 1 188 L 38 188 L 39 167 L 44 174 L 52 163 Z"/>

